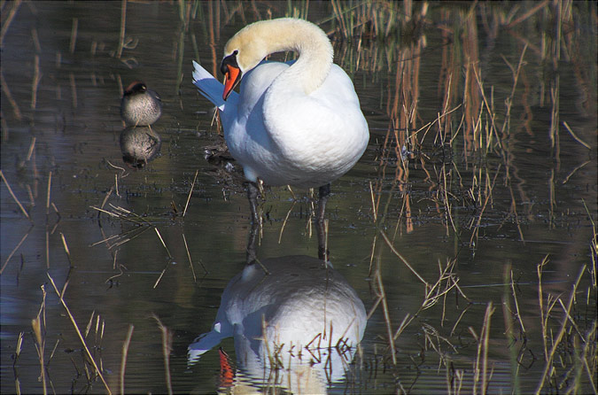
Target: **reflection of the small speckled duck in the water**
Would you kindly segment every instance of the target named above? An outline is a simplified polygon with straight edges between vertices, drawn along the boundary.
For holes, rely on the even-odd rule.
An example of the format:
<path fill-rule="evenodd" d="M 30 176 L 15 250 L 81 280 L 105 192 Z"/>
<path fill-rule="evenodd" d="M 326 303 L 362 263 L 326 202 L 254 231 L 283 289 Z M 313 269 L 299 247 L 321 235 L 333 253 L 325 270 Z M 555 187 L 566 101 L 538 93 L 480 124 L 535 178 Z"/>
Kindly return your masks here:
<path fill-rule="evenodd" d="M 131 167 L 141 168 L 159 154 L 162 139 L 151 127 L 128 127 L 120 132 L 122 160 Z"/>

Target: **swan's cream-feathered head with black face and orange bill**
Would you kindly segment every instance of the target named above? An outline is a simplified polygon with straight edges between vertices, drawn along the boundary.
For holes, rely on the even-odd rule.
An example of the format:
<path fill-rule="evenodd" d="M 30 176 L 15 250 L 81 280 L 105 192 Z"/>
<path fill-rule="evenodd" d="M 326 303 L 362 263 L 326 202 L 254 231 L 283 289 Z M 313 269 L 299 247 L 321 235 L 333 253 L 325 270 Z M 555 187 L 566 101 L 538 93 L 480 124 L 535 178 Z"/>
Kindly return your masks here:
<path fill-rule="evenodd" d="M 268 36 L 268 32 L 263 32 L 263 30 L 263 23 L 253 23 L 239 30 L 226 43 L 224 58 L 222 58 L 220 66 L 225 77 L 224 93 L 222 94 L 224 100 L 237 87 L 243 74 L 258 66 L 261 59 L 268 56 L 268 43 L 263 39 L 264 36 Z"/>

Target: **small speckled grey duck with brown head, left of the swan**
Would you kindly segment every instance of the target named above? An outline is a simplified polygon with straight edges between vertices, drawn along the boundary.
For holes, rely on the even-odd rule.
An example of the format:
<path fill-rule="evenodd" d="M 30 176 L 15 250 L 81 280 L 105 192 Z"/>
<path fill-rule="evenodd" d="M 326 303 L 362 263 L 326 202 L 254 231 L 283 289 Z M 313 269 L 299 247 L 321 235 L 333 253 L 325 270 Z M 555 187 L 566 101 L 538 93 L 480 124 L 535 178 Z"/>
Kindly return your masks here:
<path fill-rule="evenodd" d="M 127 126 L 148 126 L 162 115 L 162 100 L 144 82 L 132 82 L 120 101 L 120 118 Z"/>

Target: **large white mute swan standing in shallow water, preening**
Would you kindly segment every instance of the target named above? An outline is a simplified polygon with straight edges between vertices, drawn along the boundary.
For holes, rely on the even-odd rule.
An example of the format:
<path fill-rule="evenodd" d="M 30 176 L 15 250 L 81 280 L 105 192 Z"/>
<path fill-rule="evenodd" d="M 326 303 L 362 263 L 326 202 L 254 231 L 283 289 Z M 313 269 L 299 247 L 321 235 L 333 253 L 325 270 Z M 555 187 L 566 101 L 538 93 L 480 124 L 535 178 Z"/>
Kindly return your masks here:
<path fill-rule="evenodd" d="M 299 58 L 262 62 L 284 50 Z M 270 186 L 321 187 L 323 221 L 330 182 L 366 149 L 369 129 L 359 98 L 332 57 L 320 27 L 283 18 L 252 23 L 229 40 L 221 62 L 224 86 L 193 62 L 193 83 L 219 108 L 229 151 L 243 166 L 254 221 L 258 179 Z"/>

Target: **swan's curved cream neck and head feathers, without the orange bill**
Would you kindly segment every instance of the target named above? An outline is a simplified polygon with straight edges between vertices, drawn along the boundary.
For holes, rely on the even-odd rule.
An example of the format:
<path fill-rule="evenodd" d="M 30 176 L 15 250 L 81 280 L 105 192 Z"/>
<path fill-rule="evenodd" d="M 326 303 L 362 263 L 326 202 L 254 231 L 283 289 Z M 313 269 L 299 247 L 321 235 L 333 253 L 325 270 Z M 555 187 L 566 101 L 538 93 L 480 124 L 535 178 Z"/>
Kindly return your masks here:
<path fill-rule="evenodd" d="M 237 62 L 243 73 L 274 52 L 292 50 L 297 61 L 284 72 L 306 94 L 318 89 L 332 65 L 333 50 L 328 36 L 311 22 L 282 18 L 262 20 L 240 30 L 225 47 L 225 57 L 238 50 Z"/>

